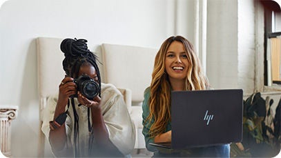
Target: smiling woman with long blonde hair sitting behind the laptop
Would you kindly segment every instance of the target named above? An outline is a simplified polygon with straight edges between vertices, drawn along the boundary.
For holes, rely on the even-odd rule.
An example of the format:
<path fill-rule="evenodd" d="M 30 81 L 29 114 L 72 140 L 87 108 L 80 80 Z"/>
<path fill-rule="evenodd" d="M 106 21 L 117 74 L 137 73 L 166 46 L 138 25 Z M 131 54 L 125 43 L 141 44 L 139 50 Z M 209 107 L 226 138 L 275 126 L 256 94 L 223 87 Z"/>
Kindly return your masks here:
<path fill-rule="evenodd" d="M 151 86 L 144 92 L 142 133 L 146 148 L 155 157 L 229 157 L 229 144 L 186 150 L 159 150 L 149 143 L 171 141 L 171 91 L 206 90 L 209 81 L 202 72 L 193 45 L 184 37 L 169 37 L 155 57 Z"/>

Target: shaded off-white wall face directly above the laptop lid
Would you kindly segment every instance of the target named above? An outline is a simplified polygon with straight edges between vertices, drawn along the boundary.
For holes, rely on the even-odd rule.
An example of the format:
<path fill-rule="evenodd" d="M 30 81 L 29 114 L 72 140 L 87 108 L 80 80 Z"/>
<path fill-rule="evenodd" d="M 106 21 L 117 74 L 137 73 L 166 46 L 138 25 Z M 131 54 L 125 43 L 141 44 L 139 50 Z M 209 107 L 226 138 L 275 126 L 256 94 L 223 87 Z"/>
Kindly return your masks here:
<path fill-rule="evenodd" d="M 206 74 L 213 88 L 238 88 L 238 1 L 207 5 Z"/>

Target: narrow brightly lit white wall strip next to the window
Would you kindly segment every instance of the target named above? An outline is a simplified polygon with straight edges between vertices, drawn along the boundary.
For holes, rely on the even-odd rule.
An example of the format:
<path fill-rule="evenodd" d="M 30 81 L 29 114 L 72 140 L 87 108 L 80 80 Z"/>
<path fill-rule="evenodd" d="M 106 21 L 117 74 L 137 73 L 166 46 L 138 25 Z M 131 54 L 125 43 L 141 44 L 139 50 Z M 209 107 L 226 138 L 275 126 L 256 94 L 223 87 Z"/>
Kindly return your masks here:
<path fill-rule="evenodd" d="M 255 3 L 238 0 L 238 86 L 244 93 L 255 88 Z"/>

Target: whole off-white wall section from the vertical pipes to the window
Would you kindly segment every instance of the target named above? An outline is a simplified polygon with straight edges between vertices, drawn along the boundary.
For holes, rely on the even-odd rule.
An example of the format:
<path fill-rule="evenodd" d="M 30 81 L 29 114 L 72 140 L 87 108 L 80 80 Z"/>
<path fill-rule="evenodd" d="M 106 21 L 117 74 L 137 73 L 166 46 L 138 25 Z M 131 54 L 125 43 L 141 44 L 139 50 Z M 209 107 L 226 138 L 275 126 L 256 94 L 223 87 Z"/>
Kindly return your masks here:
<path fill-rule="evenodd" d="M 208 1 L 207 16 L 206 72 L 211 86 L 242 88 L 246 95 L 255 92 L 255 72 L 263 68 L 255 70 L 255 1 Z"/>

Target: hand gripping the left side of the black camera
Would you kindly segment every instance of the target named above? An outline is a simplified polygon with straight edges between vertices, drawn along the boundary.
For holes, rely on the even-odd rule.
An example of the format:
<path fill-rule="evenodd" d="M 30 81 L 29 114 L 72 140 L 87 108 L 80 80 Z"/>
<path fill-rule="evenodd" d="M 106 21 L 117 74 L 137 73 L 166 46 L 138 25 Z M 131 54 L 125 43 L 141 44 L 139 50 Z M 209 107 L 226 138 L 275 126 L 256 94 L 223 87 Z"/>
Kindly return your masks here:
<path fill-rule="evenodd" d="M 64 79 L 59 84 L 59 101 L 67 101 L 71 95 L 75 95 L 77 86 L 73 82 L 73 78 L 64 77 Z"/>

